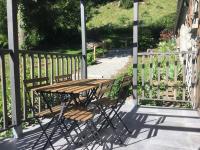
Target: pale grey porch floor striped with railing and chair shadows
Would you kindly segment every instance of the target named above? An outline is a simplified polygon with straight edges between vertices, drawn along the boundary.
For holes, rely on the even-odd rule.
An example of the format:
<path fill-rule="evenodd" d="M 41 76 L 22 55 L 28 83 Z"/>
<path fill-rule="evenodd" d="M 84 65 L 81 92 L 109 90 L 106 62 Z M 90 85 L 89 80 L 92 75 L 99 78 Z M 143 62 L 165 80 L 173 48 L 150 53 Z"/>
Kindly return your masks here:
<path fill-rule="evenodd" d="M 110 149 L 200 150 L 200 118 L 195 110 L 134 107 L 133 102 L 127 100 L 121 109 L 121 115 L 133 133 L 123 134 L 121 138 L 125 145 L 120 145 L 116 141 L 113 142 L 111 129 L 103 130 L 102 139 L 107 141 Z M 118 133 L 124 131 L 125 129 L 119 125 Z M 38 129 L 31 129 L 18 140 L 0 141 L 0 150 L 31 149 L 31 145 L 39 136 L 38 133 Z M 66 141 L 60 134 L 55 134 L 53 141 L 56 149 L 66 149 Z M 38 149 L 43 142 L 37 145 Z M 98 144 L 94 147 L 92 145 L 89 148 L 103 149 Z"/>

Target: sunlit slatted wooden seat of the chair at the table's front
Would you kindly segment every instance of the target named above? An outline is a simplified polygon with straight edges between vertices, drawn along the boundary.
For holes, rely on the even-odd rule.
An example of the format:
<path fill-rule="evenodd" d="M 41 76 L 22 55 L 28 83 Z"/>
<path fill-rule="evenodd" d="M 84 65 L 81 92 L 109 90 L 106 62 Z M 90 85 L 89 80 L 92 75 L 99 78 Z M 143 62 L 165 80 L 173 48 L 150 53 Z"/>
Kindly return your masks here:
<path fill-rule="evenodd" d="M 70 110 L 66 111 L 63 116 L 66 119 L 85 122 L 92 119 L 94 114 L 85 108 L 71 108 Z"/>

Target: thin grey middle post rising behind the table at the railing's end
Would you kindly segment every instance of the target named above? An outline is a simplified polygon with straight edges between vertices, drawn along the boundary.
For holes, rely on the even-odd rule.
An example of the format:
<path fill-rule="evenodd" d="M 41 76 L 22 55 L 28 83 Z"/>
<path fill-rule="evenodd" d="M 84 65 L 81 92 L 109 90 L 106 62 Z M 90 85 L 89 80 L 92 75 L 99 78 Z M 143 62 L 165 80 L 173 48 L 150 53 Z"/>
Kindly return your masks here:
<path fill-rule="evenodd" d="M 81 78 L 87 79 L 85 0 L 80 0 L 80 7 L 81 7 L 81 38 L 82 38 Z"/>

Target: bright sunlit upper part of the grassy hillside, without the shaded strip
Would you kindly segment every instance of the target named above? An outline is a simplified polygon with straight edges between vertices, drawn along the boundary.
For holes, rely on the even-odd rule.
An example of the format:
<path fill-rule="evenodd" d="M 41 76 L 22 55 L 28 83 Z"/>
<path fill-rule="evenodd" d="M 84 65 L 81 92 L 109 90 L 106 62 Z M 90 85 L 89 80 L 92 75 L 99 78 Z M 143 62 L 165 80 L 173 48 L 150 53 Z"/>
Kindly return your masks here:
<path fill-rule="evenodd" d="M 148 0 L 145 4 L 140 3 L 139 18 L 145 25 L 156 23 L 163 17 L 176 12 L 175 0 Z M 118 6 L 118 1 L 107 3 L 99 8 L 93 8 L 95 14 L 87 22 L 89 29 L 102 27 L 108 24 L 123 27 L 132 24 L 133 9 L 124 9 Z"/>

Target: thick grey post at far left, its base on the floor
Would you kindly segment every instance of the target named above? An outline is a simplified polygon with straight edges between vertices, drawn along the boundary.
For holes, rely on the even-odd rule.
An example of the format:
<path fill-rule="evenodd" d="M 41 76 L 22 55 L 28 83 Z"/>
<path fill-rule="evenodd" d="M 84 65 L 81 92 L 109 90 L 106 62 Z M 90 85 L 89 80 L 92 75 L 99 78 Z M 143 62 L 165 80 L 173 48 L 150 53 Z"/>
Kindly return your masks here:
<path fill-rule="evenodd" d="M 11 105 L 12 124 L 15 138 L 22 134 L 20 126 L 21 104 L 20 104 L 20 78 L 19 78 L 19 51 L 18 51 L 18 31 L 17 31 L 17 0 L 7 0 L 7 20 L 8 20 L 8 45 L 13 50 L 10 57 L 10 81 L 11 81 Z"/>

